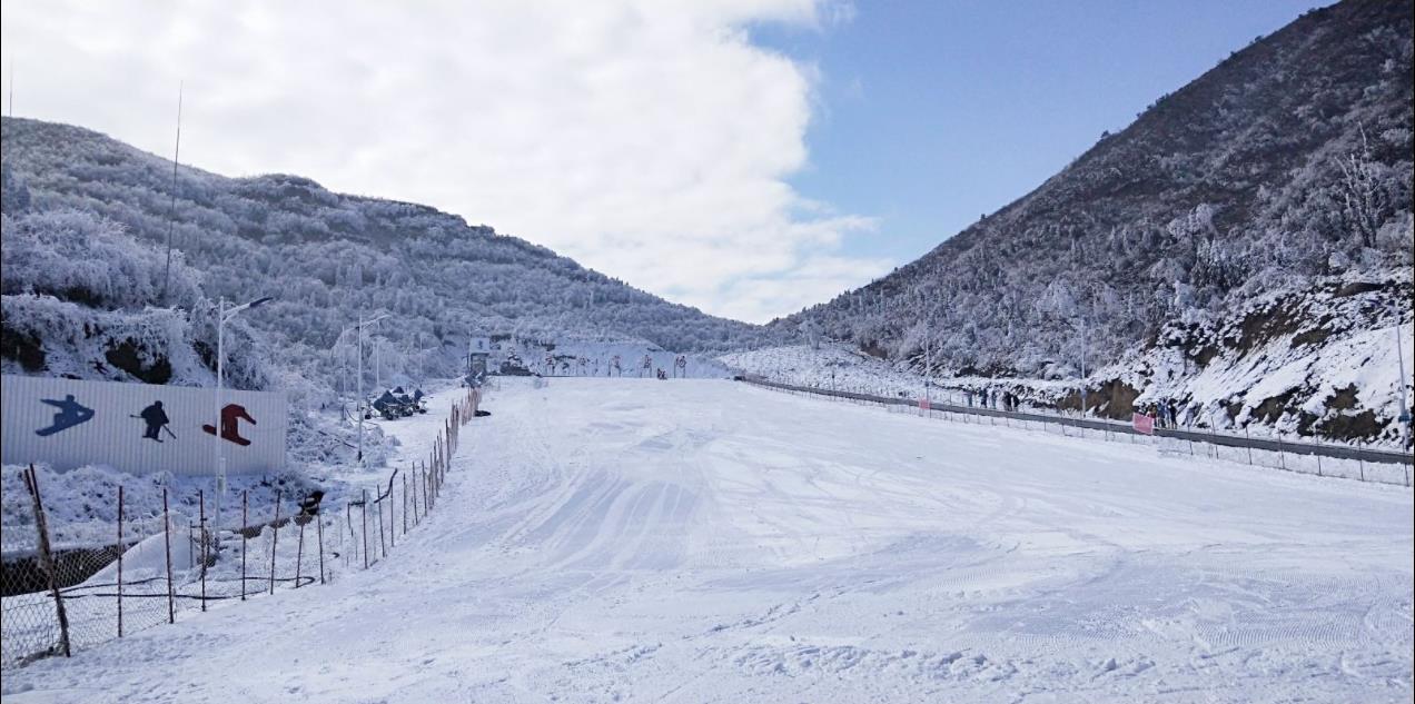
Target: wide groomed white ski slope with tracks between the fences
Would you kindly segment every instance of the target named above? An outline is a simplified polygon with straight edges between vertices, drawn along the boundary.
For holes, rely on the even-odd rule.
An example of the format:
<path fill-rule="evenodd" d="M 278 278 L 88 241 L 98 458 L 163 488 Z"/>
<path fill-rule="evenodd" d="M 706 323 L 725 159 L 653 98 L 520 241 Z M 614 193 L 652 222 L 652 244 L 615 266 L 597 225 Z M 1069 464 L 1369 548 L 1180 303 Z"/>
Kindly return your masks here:
<path fill-rule="evenodd" d="M 1405 488 L 722 380 L 485 407 L 385 563 L 6 701 L 1411 700 Z"/>

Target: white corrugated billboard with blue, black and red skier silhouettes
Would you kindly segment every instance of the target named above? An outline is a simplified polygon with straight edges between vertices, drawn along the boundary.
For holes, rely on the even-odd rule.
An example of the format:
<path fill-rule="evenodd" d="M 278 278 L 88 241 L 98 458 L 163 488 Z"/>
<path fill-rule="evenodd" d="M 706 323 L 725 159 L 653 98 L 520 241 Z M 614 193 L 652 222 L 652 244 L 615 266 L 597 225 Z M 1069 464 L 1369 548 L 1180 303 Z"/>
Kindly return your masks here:
<path fill-rule="evenodd" d="M 134 474 L 228 474 L 284 467 L 283 393 L 79 382 L 37 376 L 0 379 L 4 464 L 48 462 L 55 469 L 102 464 Z"/>

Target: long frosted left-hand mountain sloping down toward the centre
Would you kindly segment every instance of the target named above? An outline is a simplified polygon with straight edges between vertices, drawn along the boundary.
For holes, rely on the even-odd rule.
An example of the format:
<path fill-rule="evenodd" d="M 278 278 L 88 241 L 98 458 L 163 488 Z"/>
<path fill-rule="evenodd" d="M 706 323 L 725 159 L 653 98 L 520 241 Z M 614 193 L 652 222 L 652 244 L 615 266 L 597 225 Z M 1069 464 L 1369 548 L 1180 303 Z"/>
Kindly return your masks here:
<path fill-rule="evenodd" d="M 780 338 L 420 205 L 334 194 L 291 175 L 225 178 L 180 167 L 174 180 L 164 157 L 27 119 L 4 119 L 3 147 L 7 372 L 200 383 L 200 368 L 214 359 L 201 329 L 191 331 L 195 349 L 153 331 L 174 325 L 166 322 L 174 315 L 175 325 L 200 328 L 195 318 L 211 317 L 218 295 L 275 295 L 242 319 L 265 335 L 277 368 L 311 379 L 331 377 L 331 348 L 359 312 L 392 314 L 371 334 L 386 363 L 415 377 L 453 373 L 473 334 L 668 351 Z M 167 303 L 178 312 L 157 310 L 168 228 L 178 264 Z M 86 250 L 91 240 L 100 249 Z M 75 332 L 96 322 L 81 308 L 100 311 L 100 327 L 117 332 Z M 116 310 L 129 311 L 122 324 Z M 263 386 L 239 370 L 233 380 Z"/>

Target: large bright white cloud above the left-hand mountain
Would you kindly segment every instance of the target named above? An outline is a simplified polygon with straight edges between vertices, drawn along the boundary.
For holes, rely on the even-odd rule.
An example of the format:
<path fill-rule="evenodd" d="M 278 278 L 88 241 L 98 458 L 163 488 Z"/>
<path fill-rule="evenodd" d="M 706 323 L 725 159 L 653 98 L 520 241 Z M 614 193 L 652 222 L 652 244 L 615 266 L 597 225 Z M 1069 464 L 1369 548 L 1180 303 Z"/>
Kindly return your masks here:
<path fill-rule="evenodd" d="M 18 115 L 424 202 L 709 312 L 763 321 L 867 281 L 867 218 L 805 201 L 815 68 L 744 25 L 818 0 L 6 1 Z M 822 270 L 828 262 L 828 270 Z"/>

